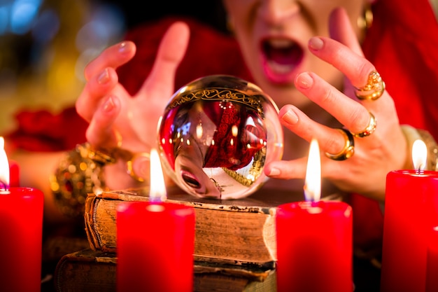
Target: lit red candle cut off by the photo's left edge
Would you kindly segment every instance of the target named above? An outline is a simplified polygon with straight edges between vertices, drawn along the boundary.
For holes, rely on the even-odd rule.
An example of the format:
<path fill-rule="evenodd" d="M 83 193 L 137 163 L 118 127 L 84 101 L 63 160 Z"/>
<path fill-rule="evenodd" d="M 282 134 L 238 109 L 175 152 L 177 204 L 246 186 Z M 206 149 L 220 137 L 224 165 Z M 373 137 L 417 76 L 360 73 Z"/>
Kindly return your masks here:
<path fill-rule="evenodd" d="M 9 188 L 8 158 L 0 141 L 1 291 L 41 291 L 44 196 L 34 188 Z"/>

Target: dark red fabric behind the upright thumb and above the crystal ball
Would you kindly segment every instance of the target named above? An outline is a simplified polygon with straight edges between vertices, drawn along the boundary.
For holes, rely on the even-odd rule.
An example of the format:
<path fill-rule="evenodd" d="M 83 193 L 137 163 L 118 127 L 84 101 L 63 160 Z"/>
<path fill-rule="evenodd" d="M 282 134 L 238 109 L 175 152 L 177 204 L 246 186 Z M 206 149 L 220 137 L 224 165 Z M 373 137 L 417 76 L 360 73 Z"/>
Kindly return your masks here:
<path fill-rule="evenodd" d="M 190 42 L 186 55 L 176 71 L 175 90 L 202 76 L 227 74 L 253 81 L 235 39 L 190 18 L 164 18 L 146 23 L 130 31 L 126 39 L 134 41 L 139 50 L 134 59 L 120 67 L 120 82 L 134 94 L 152 69 L 158 44 L 169 25 L 183 20 L 190 27 Z M 136 77 L 133 78 L 132 72 Z"/>

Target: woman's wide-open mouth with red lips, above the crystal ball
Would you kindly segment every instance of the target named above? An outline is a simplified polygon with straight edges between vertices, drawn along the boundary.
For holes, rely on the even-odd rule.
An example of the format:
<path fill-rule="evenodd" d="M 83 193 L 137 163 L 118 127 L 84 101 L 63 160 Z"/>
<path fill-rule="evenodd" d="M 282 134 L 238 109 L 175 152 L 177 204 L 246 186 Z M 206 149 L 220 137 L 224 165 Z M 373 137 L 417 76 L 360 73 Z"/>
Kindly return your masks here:
<path fill-rule="evenodd" d="M 290 39 L 266 39 L 262 41 L 262 53 L 269 76 L 290 74 L 304 55 L 302 47 Z"/>

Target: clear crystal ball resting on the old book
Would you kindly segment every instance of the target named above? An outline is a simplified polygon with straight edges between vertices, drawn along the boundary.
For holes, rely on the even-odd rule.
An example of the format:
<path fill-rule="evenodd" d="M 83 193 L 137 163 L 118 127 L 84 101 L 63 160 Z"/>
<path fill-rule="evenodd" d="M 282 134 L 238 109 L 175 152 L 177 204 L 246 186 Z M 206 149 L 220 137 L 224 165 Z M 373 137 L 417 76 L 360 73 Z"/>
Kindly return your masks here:
<path fill-rule="evenodd" d="M 180 88 L 158 137 L 165 172 L 197 197 L 246 197 L 268 179 L 264 165 L 283 155 L 278 107 L 234 76 L 206 76 Z"/>

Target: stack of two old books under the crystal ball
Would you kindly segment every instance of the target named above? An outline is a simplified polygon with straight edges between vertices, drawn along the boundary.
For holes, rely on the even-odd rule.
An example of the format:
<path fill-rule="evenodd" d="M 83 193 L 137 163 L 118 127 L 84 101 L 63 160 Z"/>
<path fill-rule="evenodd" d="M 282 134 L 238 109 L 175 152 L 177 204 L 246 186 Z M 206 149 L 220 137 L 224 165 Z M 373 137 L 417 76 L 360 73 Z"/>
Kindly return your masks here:
<path fill-rule="evenodd" d="M 147 200 L 147 188 L 89 194 L 84 218 L 90 247 L 59 260 L 56 290 L 116 291 L 116 208 Z M 168 190 L 168 202 L 195 208 L 194 291 L 276 291 L 276 206 L 297 200 L 302 193 L 261 189 L 240 200 L 208 200 Z"/>

